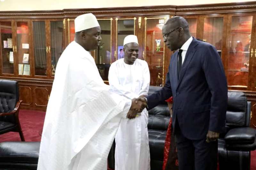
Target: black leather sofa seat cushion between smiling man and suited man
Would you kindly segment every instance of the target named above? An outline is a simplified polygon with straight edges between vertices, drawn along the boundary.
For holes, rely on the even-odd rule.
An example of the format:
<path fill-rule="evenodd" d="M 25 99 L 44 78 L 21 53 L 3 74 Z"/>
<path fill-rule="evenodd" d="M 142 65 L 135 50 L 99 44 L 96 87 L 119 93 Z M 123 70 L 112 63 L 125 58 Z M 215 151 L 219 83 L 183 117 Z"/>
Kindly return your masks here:
<path fill-rule="evenodd" d="M 165 137 L 166 130 L 148 129 L 150 159 L 163 161 Z"/>

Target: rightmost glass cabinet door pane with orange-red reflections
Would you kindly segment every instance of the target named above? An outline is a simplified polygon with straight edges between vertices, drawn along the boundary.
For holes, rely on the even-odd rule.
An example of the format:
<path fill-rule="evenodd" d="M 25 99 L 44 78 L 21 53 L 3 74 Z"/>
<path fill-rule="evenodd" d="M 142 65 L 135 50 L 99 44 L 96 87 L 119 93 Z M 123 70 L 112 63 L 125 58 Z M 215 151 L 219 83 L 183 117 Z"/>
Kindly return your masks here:
<path fill-rule="evenodd" d="M 228 85 L 247 87 L 252 16 L 232 17 L 228 47 Z"/>

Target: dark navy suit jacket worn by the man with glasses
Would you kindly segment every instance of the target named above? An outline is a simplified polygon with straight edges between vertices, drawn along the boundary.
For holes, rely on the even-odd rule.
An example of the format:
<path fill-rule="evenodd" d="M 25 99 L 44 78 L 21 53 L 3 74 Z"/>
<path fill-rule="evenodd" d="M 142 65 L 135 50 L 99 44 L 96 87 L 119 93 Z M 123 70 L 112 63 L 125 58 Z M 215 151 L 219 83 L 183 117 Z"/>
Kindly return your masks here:
<path fill-rule="evenodd" d="M 185 137 L 197 140 L 206 138 L 208 130 L 225 131 L 228 89 L 216 48 L 193 38 L 179 79 L 177 57 L 178 50 L 171 57 L 164 87 L 147 96 L 148 109 L 173 96 L 172 126 L 178 121 Z"/>

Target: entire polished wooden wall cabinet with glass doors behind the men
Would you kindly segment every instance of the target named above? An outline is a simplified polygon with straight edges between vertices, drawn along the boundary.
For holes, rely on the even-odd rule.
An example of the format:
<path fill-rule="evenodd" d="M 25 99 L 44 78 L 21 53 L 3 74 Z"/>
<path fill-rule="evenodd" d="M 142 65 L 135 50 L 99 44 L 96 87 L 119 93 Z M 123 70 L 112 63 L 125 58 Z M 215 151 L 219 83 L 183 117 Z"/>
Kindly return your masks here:
<path fill-rule="evenodd" d="M 173 52 L 165 47 L 161 29 L 172 16 L 186 18 L 191 35 L 218 50 L 228 89 L 243 91 L 252 101 L 256 127 L 255 2 L 0 12 L 0 78 L 19 81 L 23 108 L 46 109 L 58 59 L 74 41 L 74 19 L 88 12 L 101 26 L 100 47 L 91 54 L 107 84 L 111 63 L 123 57 L 124 37 L 135 34 L 139 58 L 149 66 L 150 85 L 164 85 Z"/>

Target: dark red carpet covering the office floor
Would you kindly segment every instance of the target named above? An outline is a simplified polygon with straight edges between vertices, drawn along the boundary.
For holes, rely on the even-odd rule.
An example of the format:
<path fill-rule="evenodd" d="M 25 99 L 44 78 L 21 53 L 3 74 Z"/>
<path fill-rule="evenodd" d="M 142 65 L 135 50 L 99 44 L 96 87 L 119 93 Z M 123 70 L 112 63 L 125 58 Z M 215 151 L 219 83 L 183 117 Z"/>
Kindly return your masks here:
<path fill-rule="evenodd" d="M 25 140 L 40 141 L 42 132 L 45 112 L 36 110 L 20 110 L 20 124 L 23 130 Z M 0 142 L 4 141 L 21 141 L 18 132 L 8 132 L 0 135 Z M 251 170 L 256 170 L 256 151 L 251 152 Z"/>

